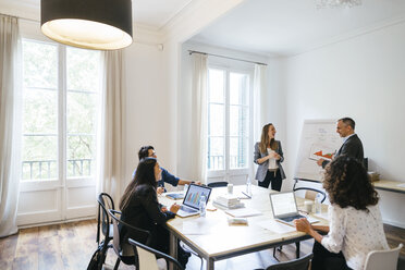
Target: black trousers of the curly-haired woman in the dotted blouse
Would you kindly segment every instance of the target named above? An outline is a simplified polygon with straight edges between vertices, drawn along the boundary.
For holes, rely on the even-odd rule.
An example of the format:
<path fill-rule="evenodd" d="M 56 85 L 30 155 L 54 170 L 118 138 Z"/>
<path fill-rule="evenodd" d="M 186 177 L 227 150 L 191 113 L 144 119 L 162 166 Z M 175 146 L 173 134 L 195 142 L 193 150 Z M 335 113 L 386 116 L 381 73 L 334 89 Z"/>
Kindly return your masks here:
<path fill-rule="evenodd" d="M 311 270 L 351 270 L 342 251 L 330 253 L 321 244 L 315 242 L 312 253 Z"/>

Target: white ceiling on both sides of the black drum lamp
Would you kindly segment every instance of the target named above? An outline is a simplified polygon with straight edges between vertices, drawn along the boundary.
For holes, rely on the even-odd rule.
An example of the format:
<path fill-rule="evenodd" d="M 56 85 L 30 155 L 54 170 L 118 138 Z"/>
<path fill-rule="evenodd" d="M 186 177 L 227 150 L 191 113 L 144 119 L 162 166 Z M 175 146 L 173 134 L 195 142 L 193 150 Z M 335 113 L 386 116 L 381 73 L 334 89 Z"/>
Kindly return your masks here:
<path fill-rule="evenodd" d="M 132 0 L 133 21 L 135 24 L 159 29 L 192 1 L 193 0 Z M 0 0 L 0 4 L 36 10 L 39 16 L 40 0 Z"/>

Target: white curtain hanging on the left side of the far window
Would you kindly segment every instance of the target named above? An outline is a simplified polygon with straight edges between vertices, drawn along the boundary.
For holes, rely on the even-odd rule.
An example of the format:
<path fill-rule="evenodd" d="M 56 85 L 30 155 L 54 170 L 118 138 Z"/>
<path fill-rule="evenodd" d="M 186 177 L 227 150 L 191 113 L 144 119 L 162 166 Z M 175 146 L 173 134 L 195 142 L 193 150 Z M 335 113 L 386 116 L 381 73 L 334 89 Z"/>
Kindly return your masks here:
<path fill-rule="evenodd" d="M 193 114 L 192 114 L 192 133 L 193 149 L 192 154 L 193 168 L 196 172 L 194 179 L 207 182 L 207 56 L 193 53 Z"/>

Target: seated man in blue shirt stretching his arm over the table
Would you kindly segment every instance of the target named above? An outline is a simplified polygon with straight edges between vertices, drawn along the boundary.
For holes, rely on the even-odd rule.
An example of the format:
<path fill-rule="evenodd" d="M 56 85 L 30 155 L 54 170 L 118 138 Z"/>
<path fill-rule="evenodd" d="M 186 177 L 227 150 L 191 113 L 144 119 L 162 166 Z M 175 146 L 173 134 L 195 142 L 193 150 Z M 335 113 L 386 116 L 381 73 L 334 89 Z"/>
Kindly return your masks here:
<path fill-rule="evenodd" d="M 147 145 L 147 146 L 143 146 L 140 147 L 139 151 L 138 151 L 138 158 L 139 158 L 139 161 L 144 158 L 148 158 L 148 157 L 152 157 L 152 158 L 158 158 L 156 156 L 156 151 L 155 151 L 155 148 L 150 145 Z M 177 186 L 177 185 L 189 185 L 189 184 L 197 184 L 197 185 L 200 185 L 201 182 L 199 181 L 191 181 L 191 180 L 183 180 L 183 179 L 179 179 L 176 176 L 174 176 L 173 174 L 171 174 L 170 172 L 168 172 L 168 170 L 163 169 L 163 168 L 160 168 L 162 170 L 162 177 L 161 180 L 158 181 L 158 194 L 162 194 L 163 192 L 165 192 L 165 188 L 164 188 L 164 182 L 165 183 L 169 183 L 171 184 L 172 186 Z M 136 171 L 136 170 L 135 170 Z M 135 171 L 132 175 L 132 177 L 135 176 Z"/>

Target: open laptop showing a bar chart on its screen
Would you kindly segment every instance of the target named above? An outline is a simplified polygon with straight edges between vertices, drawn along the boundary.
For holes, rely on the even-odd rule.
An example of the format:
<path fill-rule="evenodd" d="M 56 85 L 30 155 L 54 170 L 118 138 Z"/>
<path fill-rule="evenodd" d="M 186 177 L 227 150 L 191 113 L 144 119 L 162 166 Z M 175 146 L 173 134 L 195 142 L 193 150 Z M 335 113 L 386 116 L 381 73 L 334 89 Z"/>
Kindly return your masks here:
<path fill-rule="evenodd" d="M 182 218 L 199 214 L 199 199 L 205 195 L 207 202 L 211 195 L 211 187 L 191 184 L 186 195 L 184 196 L 183 204 L 177 211 L 177 216 Z"/>

